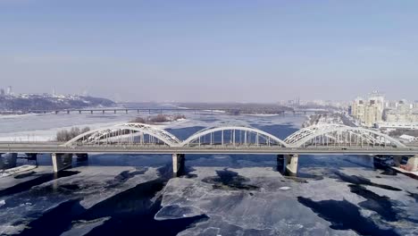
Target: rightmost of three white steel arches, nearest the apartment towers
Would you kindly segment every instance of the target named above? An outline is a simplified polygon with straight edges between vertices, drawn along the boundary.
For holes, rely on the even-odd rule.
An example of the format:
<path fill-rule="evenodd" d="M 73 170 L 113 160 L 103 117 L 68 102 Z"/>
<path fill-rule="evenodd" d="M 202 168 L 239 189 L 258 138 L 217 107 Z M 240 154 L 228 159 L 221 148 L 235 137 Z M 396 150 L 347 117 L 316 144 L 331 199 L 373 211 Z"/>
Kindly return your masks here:
<path fill-rule="evenodd" d="M 325 145 L 329 140 L 332 140 L 334 144 L 342 145 L 352 145 L 358 142 L 361 145 L 367 143 L 373 146 L 405 147 L 397 139 L 379 131 L 342 124 L 321 124 L 306 127 L 291 134 L 284 141 L 288 144 L 288 147 L 303 147 L 309 142 L 315 146 Z"/>

